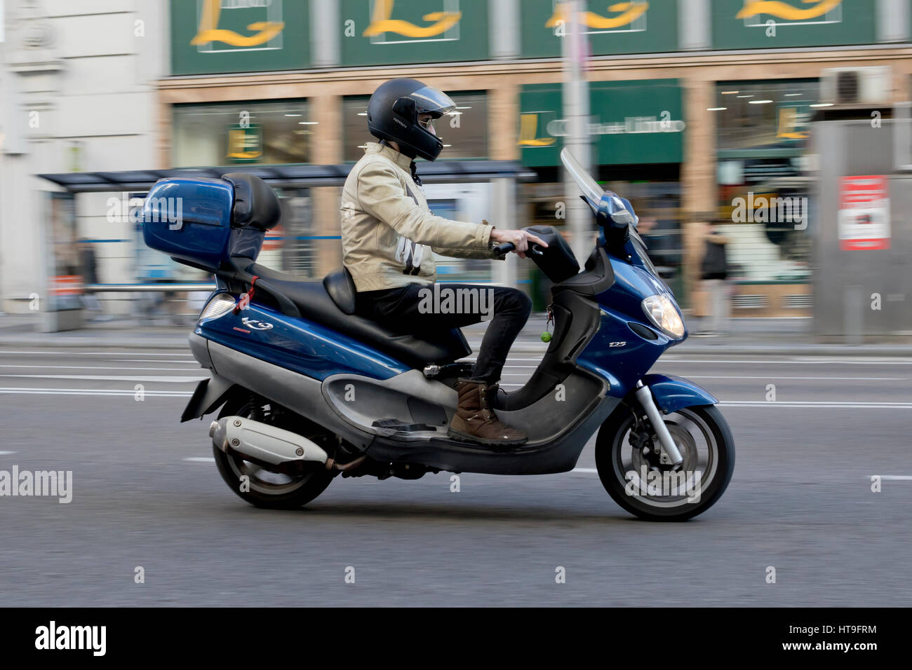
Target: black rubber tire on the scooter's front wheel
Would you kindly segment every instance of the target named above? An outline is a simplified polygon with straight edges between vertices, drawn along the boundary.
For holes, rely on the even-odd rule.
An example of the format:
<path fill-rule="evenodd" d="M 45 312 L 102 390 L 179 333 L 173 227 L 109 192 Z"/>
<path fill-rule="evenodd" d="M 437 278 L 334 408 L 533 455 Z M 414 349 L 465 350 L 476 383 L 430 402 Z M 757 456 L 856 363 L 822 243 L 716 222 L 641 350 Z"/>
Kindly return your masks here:
<path fill-rule="evenodd" d="M 731 428 L 725 418 L 722 417 L 719 409 L 712 405 L 700 407 L 687 407 L 674 412 L 665 417 L 666 425 L 674 426 L 677 431 L 676 441 L 679 435 L 686 428 L 682 428 L 684 421 L 676 422 L 673 417 L 684 417 L 687 422 L 692 423 L 700 429 L 700 433 L 707 443 L 707 470 L 689 470 L 690 472 L 700 473 L 699 488 L 694 486 L 691 490 L 697 495 L 643 495 L 644 490 L 648 490 L 645 484 L 638 482 L 644 481 L 639 475 L 636 479 L 630 477 L 630 471 L 624 471 L 624 453 L 626 449 L 630 450 L 631 461 L 640 462 L 640 469 L 645 465 L 647 475 L 645 481 L 652 479 L 649 472 L 654 471 L 660 475 L 663 469 L 669 469 L 668 466 L 649 464 L 645 459 L 655 458 L 652 454 L 644 457 L 643 451 L 648 452 L 648 447 L 637 449 L 627 440 L 630 428 L 636 424 L 636 417 L 627 409 L 626 405 L 618 408 L 610 417 L 608 417 L 602 428 L 598 431 L 596 438 L 596 469 L 598 478 L 602 480 L 602 485 L 611 496 L 612 500 L 617 502 L 622 508 L 635 514 L 640 519 L 648 521 L 685 521 L 691 519 L 702 512 L 709 510 L 710 507 L 720 499 L 722 493 L 731 481 L 731 473 L 735 466 L 735 446 L 734 437 L 731 435 Z M 710 448 L 710 436 L 714 441 L 714 447 Z M 696 439 L 694 438 L 694 442 Z M 699 448 L 694 445 L 693 448 L 687 447 L 688 453 L 692 449 L 697 453 Z M 711 450 L 711 454 L 710 454 Z M 639 451 L 639 456 L 637 456 Z M 683 451 L 682 451 L 683 454 Z M 690 457 L 689 457 L 690 458 Z M 688 462 L 687 460 L 685 462 Z M 693 463 L 699 462 L 694 460 Z M 642 471 L 642 470 L 641 470 Z M 685 470 L 686 472 L 686 470 Z M 634 470 L 637 473 L 637 470 Z M 669 476 L 671 473 L 669 472 Z M 669 479 L 670 481 L 670 479 Z M 693 483 L 697 485 L 694 479 Z M 679 489 L 671 489 L 677 491 Z"/>

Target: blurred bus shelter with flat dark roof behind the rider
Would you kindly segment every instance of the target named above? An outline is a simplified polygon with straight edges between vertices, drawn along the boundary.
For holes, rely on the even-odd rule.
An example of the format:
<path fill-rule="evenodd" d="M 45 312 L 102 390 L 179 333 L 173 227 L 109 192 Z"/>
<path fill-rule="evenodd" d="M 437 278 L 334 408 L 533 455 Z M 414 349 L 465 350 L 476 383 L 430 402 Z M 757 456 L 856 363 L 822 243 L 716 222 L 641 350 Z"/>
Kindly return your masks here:
<path fill-rule="evenodd" d="M 279 194 L 283 219 L 277 230 L 264 242 L 261 262 L 294 273 L 304 279 L 321 279 L 341 263 L 337 210 L 332 217 L 315 221 L 313 196 L 322 194 L 338 200 L 338 190 L 345 183 L 352 164 L 343 165 L 252 165 L 243 171 L 254 174 Z M 39 175 L 56 189 L 45 193 L 42 216 L 42 264 L 45 268 L 42 330 L 57 332 L 82 327 L 87 299 L 94 294 L 129 294 L 161 292 L 208 292 L 211 280 L 172 262 L 163 254 L 145 247 L 141 240 L 140 212 L 152 184 L 161 179 L 219 179 L 228 172 L 242 171 L 238 166 L 178 168 L 171 170 L 124 170 L 109 172 L 63 172 Z M 516 183 L 533 180 L 535 174 L 518 161 L 445 160 L 422 162 L 419 172 L 425 184 L 432 211 L 447 218 L 465 216 L 481 221 L 476 215 L 505 228 L 522 227 L 517 221 Z M 91 196 L 90 194 L 95 194 Z M 98 194 L 104 200 L 99 200 Z M 108 196 L 105 198 L 105 196 Z M 91 199 L 88 208 L 80 200 Z M 104 211 L 99 211 L 103 202 Z M 102 236 L 87 235 L 79 230 L 80 217 L 104 218 L 114 225 Z M 98 230 L 98 226 L 95 226 Z M 92 244 L 130 244 L 134 270 L 118 281 L 87 282 L 87 248 Z M 490 276 L 484 280 L 503 285 L 517 283 L 516 259 L 505 263 L 488 263 Z M 487 266 L 486 266 L 487 267 Z M 446 280 L 446 263 L 440 268 Z M 472 281 L 473 272 L 464 267 L 452 280 Z M 477 273 L 475 273 L 477 274 Z M 88 273 L 91 276 L 91 273 Z"/>

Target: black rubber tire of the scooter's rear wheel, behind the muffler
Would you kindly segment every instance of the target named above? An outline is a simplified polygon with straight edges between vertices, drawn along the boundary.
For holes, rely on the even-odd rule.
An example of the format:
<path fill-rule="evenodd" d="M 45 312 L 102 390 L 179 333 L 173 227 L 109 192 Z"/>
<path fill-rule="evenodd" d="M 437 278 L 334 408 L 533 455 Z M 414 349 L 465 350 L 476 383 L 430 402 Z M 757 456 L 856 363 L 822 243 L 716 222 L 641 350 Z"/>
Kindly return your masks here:
<path fill-rule="evenodd" d="M 224 404 L 222 411 L 219 412 L 219 418 L 252 417 L 253 408 L 250 397 L 241 393 Z M 285 424 L 279 428 L 301 432 L 300 425 L 295 427 Z M 306 432 L 301 432 L 301 434 L 304 435 Z M 306 437 L 311 436 L 306 435 Z M 244 459 L 226 454 L 215 445 L 212 445 L 212 455 L 215 457 L 215 465 L 219 469 L 219 474 L 222 475 L 222 479 L 228 484 L 229 489 L 252 505 L 269 510 L 294 510 L 303 507 L 325 491 L 329 482 L 336 476 L 336 473 L 327 470 L 323 463 L 314 463 L 313 469 L 306 474 L 291 477 L 267 472 Z M 248 477 L 248 480 L 242 487 L 241 478 L 244 475 Z"/>

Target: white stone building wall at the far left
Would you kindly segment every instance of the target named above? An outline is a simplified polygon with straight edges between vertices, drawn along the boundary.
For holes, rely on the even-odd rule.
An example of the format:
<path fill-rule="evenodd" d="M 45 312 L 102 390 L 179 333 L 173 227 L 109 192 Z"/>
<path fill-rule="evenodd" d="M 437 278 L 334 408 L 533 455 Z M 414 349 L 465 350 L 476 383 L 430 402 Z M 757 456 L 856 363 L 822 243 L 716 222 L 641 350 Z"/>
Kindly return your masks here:
<path fill-rule="evenodd" d="M 43 0 L 39 15 L 0 5 L 0 297 L 6 311 L 21 312 L 27 303 L 16 298 L 43 285 L 41 192 L 55 188 L 33 175 L 71 170 L 74 142 L 82 171 L 156 167 L 155 81 L 168 74 L 170 37 L 166 0 Z M 46 44 L 26 48 L 35 35 Z M 79 236 L 131 238 L 129 224 L 107 221 L 108 197 L 78 197 Z M 131 279 L 130 242 L 97 253 L 101 281 Z"/>

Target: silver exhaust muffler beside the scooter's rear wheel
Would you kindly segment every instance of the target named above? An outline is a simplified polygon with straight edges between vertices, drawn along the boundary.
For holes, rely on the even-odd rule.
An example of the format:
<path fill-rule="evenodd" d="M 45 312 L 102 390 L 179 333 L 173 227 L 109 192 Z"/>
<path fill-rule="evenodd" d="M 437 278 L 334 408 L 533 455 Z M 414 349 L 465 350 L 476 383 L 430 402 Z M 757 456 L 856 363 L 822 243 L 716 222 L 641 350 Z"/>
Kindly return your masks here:
<path fill-rule="evenodd" d="M 314 442 L 283 428 L 244 417 L 212 421 L 209 437 L 216 448 L 272 472 L 300 473 L 306 463 L 326 463 L 329 455 Z"/>

